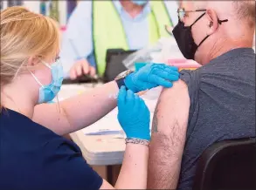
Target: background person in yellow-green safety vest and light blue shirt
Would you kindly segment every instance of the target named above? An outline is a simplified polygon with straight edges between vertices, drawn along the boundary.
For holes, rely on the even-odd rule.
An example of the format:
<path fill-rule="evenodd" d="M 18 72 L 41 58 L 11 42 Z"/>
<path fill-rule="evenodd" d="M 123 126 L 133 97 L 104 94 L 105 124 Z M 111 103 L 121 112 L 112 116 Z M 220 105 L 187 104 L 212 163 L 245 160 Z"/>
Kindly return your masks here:
<path fill-rule="evenodd" d="M 139 50 L 177 23 L 174 1 L 81 1 L 69 18 L 60 57 L 65 77 L 103 76 L 107 49 Z"/>

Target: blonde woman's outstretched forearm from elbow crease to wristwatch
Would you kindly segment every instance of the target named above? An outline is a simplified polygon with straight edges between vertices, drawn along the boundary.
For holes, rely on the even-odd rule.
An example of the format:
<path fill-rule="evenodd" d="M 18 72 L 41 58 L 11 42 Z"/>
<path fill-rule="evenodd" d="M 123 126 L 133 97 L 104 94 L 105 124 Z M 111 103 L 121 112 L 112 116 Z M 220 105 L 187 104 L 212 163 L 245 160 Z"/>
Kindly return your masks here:
<path fill-rule="evenodd" d="M 63 114 L 70 123 L 67 132 L 74 132 L 90 126 L 101 119 L 116 106 L 114 97 L 119 91 L 115 81 L 94 88 L 73 98 L 67 98 L 60 103 Z"/>

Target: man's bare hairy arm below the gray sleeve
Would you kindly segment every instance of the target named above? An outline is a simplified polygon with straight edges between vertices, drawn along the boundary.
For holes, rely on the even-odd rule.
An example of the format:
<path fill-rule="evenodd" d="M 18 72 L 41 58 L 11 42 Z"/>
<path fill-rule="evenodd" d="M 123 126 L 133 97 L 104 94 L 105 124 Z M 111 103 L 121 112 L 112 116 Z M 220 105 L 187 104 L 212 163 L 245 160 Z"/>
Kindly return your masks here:
<path fill-rule="evenodd" d="M 176 189 L 189 110 L 188 87 L 182 80 L 163 90 L 152 123 L 148 188 Z"/>

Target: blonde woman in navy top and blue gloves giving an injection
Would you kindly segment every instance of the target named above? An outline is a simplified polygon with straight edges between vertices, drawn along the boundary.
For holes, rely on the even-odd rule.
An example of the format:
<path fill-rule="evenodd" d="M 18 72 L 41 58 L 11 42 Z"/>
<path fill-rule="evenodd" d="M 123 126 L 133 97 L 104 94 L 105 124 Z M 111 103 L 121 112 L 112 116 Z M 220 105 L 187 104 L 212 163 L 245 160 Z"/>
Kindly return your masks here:
<path fill-rule="evenodd" d="M 58 54 L 59 28 L 51 18 L 23 7 L 1 11 L 0 189 L 146 188 L 149 110 L 135 92 L 171 87 L 178 79 L 176 68 L 148 64 L 59 106 L 43 104 L 62 83 Z M 117 93 L 116 101 L 112 95 Z M 93 124 L 116 104 L 127 146 L 112 187 L 61 135 Z"/>

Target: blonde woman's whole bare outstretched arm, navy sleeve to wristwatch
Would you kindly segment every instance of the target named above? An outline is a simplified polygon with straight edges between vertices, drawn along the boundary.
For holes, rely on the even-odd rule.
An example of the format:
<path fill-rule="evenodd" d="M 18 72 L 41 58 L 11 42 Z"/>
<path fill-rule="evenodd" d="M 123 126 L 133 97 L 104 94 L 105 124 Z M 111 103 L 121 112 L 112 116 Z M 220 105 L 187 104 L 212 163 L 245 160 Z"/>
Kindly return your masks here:
<path fill-rule="evenodd" d="M 116 106 L 114 94 L 119 91 L 115 81 L 90 92 L 67 98 L 58 104 L 37 105 L 33 121 L 59 135 L 78 131 L 101 119 Z"/>

